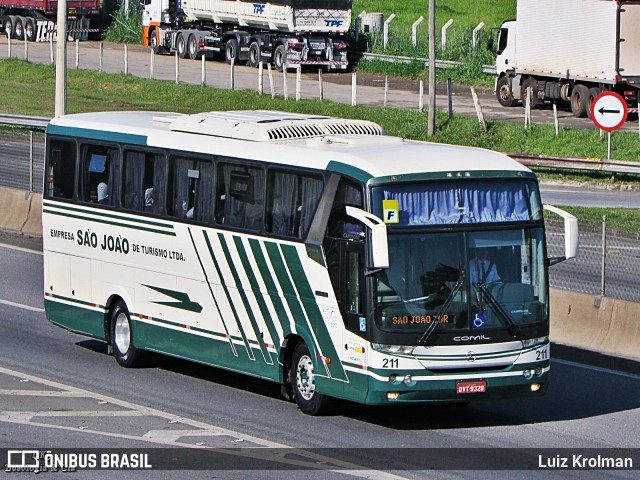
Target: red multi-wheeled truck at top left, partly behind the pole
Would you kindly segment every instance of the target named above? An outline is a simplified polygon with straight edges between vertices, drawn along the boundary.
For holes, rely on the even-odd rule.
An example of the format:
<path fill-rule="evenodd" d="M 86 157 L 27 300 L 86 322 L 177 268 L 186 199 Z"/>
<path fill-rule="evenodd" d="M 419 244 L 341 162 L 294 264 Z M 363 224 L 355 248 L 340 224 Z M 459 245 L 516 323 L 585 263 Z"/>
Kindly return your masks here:
<path fill-rule="evenodd" d="M 55 36 L 57 10 L 57 0 L 0 0 L 2 31 L 16 40 L 49 41 Z M 67 10 L 69 37 L 86 40 L 100 0 L 67 0 Z"/>

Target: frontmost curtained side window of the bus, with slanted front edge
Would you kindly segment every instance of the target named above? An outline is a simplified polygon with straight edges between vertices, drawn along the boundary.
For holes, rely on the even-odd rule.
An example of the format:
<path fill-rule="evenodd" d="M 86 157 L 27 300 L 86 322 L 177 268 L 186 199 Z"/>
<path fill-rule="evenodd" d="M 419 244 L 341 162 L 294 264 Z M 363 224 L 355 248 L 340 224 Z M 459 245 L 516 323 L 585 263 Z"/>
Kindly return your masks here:
<path fill-rule="evenodd" d="M 267 231 L 304 238 L 322 195 L 322 178 L 270 172 L 267 185 Z"/>

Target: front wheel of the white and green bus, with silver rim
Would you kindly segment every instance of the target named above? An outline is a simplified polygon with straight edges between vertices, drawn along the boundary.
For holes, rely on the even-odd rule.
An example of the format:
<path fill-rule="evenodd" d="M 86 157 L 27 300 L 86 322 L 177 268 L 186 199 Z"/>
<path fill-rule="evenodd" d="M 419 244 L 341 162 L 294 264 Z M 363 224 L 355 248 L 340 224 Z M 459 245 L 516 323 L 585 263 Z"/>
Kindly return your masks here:
<path fill-rule="evenodd" d="M 320 415 L 329 408 L 329 398 L 316 392 L 313 360 L 304 342 L 298 343 L 291 359 L 291 386 L 298 407 L 307 415 Z"/>

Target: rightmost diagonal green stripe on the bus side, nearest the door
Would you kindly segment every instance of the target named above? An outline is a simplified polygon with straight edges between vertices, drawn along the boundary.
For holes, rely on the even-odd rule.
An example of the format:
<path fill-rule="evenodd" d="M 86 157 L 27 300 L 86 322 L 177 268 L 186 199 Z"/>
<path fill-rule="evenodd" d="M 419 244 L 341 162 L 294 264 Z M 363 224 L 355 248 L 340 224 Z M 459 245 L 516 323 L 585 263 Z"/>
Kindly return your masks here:
<path fill-rule="evenodd" d="M 302 305 L 307 312 L 307 317 L 311 321 L 311 324 L 315 327 L 316 338 L 318 343 L 323 346 L 324 355 L 332 359 L 332 362 L 327 366 L 331 377 L 338 378 L 340 380 L 347 380 L 347 374 L 340 362 L 340 356 L 335 349 L 327 325 L 322 318 L 322 312 L 315 299 L 313 288 L 309 284 L 307 275 L 300 261 L 298 250 L 292 245 L 280 245 L 284 259 L 287 262 L 289 272 L 291 272 L 291 278 L 295 282 L 296 289 L 302 299 Z"/>

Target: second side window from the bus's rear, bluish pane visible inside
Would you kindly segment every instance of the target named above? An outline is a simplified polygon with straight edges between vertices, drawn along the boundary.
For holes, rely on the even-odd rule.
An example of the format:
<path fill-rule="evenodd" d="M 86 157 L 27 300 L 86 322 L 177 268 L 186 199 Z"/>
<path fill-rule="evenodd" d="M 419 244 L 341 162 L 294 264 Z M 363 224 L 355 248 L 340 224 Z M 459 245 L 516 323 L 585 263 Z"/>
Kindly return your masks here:
<path fill-rule="evenodd" d="M 116 205 L 120 151 L 103 145 L 83 145 L 80 200 Z"/>

